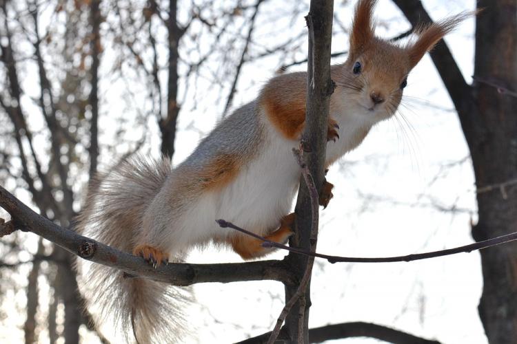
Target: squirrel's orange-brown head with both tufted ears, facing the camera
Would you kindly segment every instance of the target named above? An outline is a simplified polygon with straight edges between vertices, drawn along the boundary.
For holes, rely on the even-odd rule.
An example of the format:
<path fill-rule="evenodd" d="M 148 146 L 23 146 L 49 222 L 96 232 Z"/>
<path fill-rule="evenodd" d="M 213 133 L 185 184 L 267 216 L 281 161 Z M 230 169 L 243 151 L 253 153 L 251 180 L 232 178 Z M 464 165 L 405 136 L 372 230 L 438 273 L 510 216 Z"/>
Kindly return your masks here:
<path fill-rule="evenodd" d="M 414 32 L 416 39 L 397 45 L 375 36 L 375 4 L 376 0 L 359 0 L 356 4 L 349 56 L 334 75 L 336 95 L 344 96 L 347 102 L 355 101 L 356 107 L 372 114 L 372 122 L 395 113 L 409 72 L 445 34 L 472 15 L 464 12 L 421 26 Z"/>

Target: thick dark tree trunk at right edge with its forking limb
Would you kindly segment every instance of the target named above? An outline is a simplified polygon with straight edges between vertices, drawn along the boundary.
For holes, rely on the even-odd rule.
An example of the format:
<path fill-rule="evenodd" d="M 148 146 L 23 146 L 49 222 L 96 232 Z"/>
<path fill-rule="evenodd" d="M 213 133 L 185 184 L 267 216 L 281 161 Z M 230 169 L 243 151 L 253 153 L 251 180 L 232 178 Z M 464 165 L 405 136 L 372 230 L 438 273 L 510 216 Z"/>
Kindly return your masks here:
<path fill-rule="evenodd" d="M 416 25 L 429 21 L 418 0 L 394 0 Z M 474 85 L 467 85 L 447 46 L 432 52 L 458 111 L 478 189 L 476 241 L 517 228 L 517 1 L 478 0 Z M 512 182 L 513 181 L 513 182 Z M 479 314 L 490 343 L 517 338 L 517 244 L 480 251 L 483 295 Z"/>

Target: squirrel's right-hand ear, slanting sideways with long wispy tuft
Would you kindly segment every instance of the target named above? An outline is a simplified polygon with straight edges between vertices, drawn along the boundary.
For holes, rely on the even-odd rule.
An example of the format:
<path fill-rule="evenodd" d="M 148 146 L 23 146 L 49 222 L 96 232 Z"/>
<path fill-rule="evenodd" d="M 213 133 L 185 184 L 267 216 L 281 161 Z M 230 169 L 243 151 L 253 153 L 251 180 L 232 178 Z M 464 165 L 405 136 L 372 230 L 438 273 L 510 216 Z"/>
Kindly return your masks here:
<path fill-rule="evenodd" d="M 436 45 L 443 36 L 454 30 L 459 23 L 476 15 L 478 12 L 480 11 L 461 12 L 453 17 L 417 28 L 415 34 L 418 35 L 418 39 L 414 43 L 409 43 L 407 46 L 411 67 L 414 67 L 426 52 L 432 50 L 434 45 Z"/>

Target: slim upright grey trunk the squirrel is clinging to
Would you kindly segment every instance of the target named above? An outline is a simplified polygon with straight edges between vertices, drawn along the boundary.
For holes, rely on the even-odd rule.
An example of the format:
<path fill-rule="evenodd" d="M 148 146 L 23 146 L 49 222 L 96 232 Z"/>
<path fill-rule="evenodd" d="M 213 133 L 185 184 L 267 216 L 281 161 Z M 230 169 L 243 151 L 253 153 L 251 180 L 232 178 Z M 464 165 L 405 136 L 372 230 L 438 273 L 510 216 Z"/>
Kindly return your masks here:
<path fill-rule="evenodd" d="M 332 41 L 333 0 L 312 0 L 307 15 L 309 28 L 309 58 L 307 65 L 307 113 L 302 134 L 305 162 L 309 166 L 314 184 L 320 191 L 325 181 L 325 150 L 330 95 L 334 85 L 330 78 L 330 46 Z M 310 249 L 311 200 L 303 178 L 296 202 L 296 234 L 290 246 Z M 290 254 L 287 259 L 298 279 L 302 279 L 307 257 Z M 298 286 L 285 287 L 285 300 L 289 301 Z M 285 319 L 285 332 L 292 343 L 309 343 L 310 283 L 305 295 L 296 302 Z M 303 321 L 303 324 L 301 323 Z M 303 326 L 303 329 L 300 327 Z M 302 338 L 300 336 L 303 336 Z"/>

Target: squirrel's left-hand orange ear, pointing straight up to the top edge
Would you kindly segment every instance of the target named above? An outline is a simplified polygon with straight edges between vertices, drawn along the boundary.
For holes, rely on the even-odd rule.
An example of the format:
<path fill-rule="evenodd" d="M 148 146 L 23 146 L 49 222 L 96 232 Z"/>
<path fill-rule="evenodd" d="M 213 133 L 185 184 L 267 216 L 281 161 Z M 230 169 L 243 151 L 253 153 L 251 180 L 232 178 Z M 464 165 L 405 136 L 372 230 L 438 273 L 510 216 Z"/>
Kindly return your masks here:
<path fill-rule="evenodd" d="M 350 33 L 350 53 L 361 52 L 363 47 L 374 38 L 373 12 L 377 0 L 358 0 Z"/>

